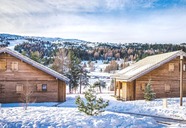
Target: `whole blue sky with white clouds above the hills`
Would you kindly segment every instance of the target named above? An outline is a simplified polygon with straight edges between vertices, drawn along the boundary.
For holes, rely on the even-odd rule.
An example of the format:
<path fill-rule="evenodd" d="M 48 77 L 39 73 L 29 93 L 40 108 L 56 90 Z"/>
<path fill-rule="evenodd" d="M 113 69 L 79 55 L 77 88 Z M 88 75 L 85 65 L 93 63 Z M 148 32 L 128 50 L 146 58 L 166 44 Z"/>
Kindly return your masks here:
<path fill-rule="evenodd" d="M 1 0 L 0 33 L 113 43 L 186 42 L 186 0 Z"/>

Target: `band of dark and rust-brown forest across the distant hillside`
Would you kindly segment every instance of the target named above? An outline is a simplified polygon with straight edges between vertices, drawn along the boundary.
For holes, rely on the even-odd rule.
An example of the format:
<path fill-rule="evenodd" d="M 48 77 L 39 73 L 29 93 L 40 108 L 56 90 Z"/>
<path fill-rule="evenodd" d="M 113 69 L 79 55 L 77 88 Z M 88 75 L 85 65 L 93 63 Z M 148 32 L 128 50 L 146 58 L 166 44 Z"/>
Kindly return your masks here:
<path fill-rule="evenodd" d="M 53 63 L 53 57 L 56 56 L 59 48 L 73 49 L 73 52 L 79 59 L 86 61 L 111 61 L 119 59 L 125 59 L 125 61 L 138 61 L 149 55 L 176 50 L 186 51 L 185 46 L 185 44 L 99 43 L 98 45 L 91 47 L 86 43 L 77 46 L 70 42 L 51 43 L 49 41 L 37 41 L 35 43 L 24 42 L 19 44 L 15 46 L 15 50 L 30 58 L 35 56 L 33 58 L 36 59 L 36 61 L 48 65 Z"/>

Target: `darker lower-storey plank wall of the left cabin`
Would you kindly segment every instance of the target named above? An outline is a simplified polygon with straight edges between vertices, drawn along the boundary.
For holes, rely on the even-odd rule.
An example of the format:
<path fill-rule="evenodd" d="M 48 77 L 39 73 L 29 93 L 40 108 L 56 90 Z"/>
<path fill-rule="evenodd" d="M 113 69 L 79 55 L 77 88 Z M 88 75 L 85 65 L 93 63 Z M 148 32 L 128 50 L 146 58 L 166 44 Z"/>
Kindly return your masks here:
<path fill-rule="evenodd" d="M 21 102 L 22 98 L 20 93 L 16 92 L 16 85 L 23 84 L 29 86 L 33 94 L 31 95 L 31 102 L 44 102 L 44 101 L 58 101 L 57 96 L 57 82 L 56 81 L 0 81 L 5 85 L 4 95 L 0 97 L 0 102 Z M 37 84 L 47 84 L 47 91 L 37 91 Z"/>

